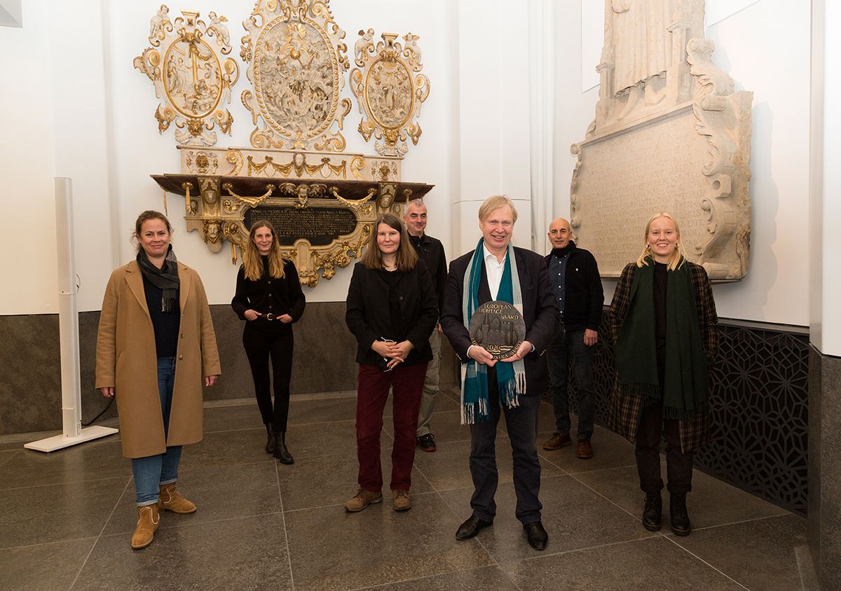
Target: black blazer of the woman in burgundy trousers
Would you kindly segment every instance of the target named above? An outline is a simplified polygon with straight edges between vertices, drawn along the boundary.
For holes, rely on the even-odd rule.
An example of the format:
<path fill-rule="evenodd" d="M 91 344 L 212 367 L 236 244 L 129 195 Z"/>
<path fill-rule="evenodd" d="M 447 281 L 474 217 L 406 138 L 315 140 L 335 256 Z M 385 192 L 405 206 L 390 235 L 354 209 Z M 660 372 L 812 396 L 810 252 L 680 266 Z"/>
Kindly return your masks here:
<path fill-rule="evenodd" d="M 414 347 L 404 363 L 430 361 L 429 337 L 438 321 L 438 305 L 424 261 L 418 260 L 414 269 L 400 274 L 397 295 L 405 325 L 410 327 L 406 339 Z M 351 285 L 347 289 L 345 323 L 357 339 L 357 363 L 379 365 L 382 357 L 371 345 L 391 332 L 389 284 L 380 272 L 369 269 L 362 262 L 353 266 Z"/>

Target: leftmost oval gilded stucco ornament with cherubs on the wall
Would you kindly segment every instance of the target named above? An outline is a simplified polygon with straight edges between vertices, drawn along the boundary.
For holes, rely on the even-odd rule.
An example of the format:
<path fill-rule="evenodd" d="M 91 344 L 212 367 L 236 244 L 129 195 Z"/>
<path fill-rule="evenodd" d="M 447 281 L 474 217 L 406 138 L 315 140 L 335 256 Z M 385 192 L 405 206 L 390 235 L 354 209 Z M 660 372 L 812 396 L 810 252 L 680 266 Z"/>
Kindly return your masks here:
<path fill-rule="evenodd" d="M 152 81 L 161 99 L 155 111 L 158 131 L 162 134 L 174 122 L 179 144 L 210 146 L 216 143 L 217 125 L 230 135 L 234 118 L 223 105 L 230 103 L 240 68 L 225 57 L 231 50 L 227 18 L 211 12 L 208 25 L 197 12 L 185 10 L 182 15 L 173 23 L 169 8 L 161 4 L 149 24 L 152 46 L 133 63 Z M 210 166 L 208 162 L 208 170 Z"/>

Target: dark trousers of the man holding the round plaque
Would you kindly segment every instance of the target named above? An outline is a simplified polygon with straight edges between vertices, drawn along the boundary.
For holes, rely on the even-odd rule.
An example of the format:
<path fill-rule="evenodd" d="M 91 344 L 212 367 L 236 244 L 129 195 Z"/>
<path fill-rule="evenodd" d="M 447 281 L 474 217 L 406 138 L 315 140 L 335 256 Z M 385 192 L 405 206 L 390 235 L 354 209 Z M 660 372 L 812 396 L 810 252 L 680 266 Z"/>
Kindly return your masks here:
<path fill-rule="evenodd" d="M 520 406 L 513 409 L 500 405 L 493 367 L 488 371 L 488 389 L 490 420 L 470 425 L 470 475 L 473 477 L 470 506 L 473 514 L 484 521 L 492 521 L 496 514 L 494 495 L 500 480 L 496 470 L 496 425 L 500 422 L 500 414 L 505 414 L 514 462 L 516 517 L 524 524 L 539 521 L 543 505 L 537 498 L 540 493 L 540 461 L 535 440 L 540 397 L 521 396 Z"/>

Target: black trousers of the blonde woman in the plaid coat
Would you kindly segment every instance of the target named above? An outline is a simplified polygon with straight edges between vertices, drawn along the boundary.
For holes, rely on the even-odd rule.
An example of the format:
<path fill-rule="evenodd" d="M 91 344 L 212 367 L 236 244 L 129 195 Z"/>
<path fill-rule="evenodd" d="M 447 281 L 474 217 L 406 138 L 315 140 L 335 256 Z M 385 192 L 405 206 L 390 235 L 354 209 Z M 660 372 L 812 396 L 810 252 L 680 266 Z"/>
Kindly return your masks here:
<path fill-rule="evenodd" d="M 666 438 L 666 475 L 669 493 L 688 493 L 692 490 L 692 452 L 680 450 L 680 420 L 663 420 L 663 406 L 650 404 L 643 409 L 637 430 L 637 471 L 639 488 L 644 493 L 659 493 L 660 441 Z"/>

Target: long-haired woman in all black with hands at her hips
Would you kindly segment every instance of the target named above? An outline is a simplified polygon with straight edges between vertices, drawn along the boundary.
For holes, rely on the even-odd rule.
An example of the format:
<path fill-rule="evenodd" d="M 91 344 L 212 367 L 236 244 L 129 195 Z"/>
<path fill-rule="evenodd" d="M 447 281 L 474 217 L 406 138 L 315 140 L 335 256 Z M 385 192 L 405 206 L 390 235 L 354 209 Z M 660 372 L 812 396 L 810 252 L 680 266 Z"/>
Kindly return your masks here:
<path fill-rule="evenodd" d="M 254 394 L 266 425 L 266 452 L 273 453 L 281 463 L 291 464 L 294 459 L 286 447 L 286 422 L 294 346 L 292 323 L 304 314 L 306 298 L 294 263 L 280 256 L 271 222 L 261 219 L 251 225 L 242 261 L 230 305 L 241 319 L 246 320 L 242 344 L 246 347 L 254 377 Z M 269 393 L 270 356 L 274 409 Z"/>

